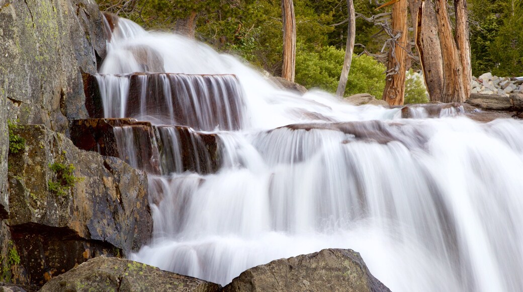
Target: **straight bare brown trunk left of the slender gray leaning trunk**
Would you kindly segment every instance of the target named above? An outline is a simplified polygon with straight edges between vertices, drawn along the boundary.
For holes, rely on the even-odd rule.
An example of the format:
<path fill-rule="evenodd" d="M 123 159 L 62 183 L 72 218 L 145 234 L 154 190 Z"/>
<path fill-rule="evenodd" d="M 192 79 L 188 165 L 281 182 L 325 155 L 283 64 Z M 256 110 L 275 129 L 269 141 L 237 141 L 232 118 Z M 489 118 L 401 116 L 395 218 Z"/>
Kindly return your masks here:
<path fill-rule="evenodd" d="M 281 77 L 294 82 L 296 65 L 296 20 L 292 0 L 281 0 L 283 19 L 283 66 Z"/>

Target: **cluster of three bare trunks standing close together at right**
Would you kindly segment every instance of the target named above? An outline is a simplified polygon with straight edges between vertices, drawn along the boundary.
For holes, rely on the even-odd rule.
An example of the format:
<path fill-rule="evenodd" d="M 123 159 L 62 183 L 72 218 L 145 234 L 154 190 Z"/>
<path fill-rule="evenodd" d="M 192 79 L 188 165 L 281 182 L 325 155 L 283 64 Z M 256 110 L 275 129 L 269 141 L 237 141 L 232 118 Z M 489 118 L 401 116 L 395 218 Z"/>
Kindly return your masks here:
<path fill-rule="evenodd" d="M 431 101 L 464 102 L 470 96 L 472 70 L 465 1 L 454 1 L 453 37 L 446 1 L 410 0 L 416 48 Z"/>

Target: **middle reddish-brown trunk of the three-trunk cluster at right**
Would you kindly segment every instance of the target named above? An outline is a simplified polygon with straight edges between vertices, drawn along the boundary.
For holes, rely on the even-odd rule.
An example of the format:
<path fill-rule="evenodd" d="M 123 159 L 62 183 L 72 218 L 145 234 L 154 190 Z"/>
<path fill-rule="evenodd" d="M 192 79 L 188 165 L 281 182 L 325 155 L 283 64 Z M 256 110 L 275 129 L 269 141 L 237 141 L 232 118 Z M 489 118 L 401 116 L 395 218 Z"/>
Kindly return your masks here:
<path fill-rule="evenodd" d="M 438 19 L 439 42 L 443 60 L 444 88 L 441 102 L 464 102 L 465 89 L 463 84 L 463 69 L 456 43 L 452 36 L 447 1 L 436 1 L 436 17 Z"/>

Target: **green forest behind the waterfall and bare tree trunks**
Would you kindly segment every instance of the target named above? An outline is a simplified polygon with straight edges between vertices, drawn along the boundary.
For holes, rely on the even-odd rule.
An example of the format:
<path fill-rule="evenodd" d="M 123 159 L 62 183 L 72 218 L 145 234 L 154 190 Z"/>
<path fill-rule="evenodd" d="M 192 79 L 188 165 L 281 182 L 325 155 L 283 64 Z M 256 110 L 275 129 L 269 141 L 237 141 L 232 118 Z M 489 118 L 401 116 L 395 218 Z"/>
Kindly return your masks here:
<path fill-rule="evenodd" d="M 129 18 L 146 29 L 172 31 L 180 19 L 195 22 L 194 37 L 237 55 L 274 76 L 282 68 L 280 0 L 97 0 L 100 8 Z M 377 0 L 354 0 L 356 46 L 345 96 L 370 93 L 381 98 L 389 50 L 390 8 Z M 469 0 L 472 74 L 523 75 L 521 0 Z M 450 17 L 453 5 L 448 2 Z M 347 40 L 346 0 L 294 0 L 297 30 L 295 82 L 334 93 Z M 410 17 L 408 19 L 410 21 Z M 451 21 L 453 23 L 453 21 Z M 408 25 L 412 28 L 412 24 Z M 412 29 L 410 29 L 412 35 Z M 412 36 L 410 37 L 412 42 Z M 415 47 L 410 50 L 405 104 L 427 102 Z"/>

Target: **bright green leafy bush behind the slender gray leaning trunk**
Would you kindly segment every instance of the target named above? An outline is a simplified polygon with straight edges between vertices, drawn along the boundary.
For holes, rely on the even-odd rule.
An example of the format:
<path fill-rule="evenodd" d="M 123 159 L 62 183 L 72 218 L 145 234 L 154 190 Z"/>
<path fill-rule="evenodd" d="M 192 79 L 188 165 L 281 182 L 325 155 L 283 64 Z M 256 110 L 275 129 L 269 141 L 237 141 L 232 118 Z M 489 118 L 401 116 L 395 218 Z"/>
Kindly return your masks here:
<path fill-rule="evenodd" d="M 320 53 L 297 50 L 297 83 L 305 87 L 319 87 L 335 93 L 339 74 L 342 72 L 345 51 L 326 47 Z M 345 89 L 345 96 L 357 93 L 369 93 L 381 98 L 385 88 L 385 66 L 367 55 L 353 55 Z"/>

